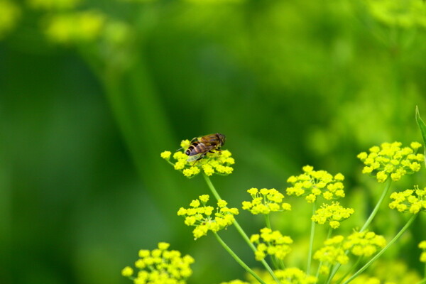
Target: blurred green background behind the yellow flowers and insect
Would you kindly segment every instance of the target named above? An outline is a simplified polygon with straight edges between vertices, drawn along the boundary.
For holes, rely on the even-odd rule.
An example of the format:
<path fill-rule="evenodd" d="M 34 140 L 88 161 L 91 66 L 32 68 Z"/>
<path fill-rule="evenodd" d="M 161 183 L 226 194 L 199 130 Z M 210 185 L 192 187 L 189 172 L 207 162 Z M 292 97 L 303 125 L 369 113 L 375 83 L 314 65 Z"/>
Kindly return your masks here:
<path fill-rule="evenodd" d="M 231 205 L 310 164 L 345 175 L 356 214 L 340 232 L 360 226 L 381 185 L 356 155 L 421 142 L 425 28 L 421 0 L 0 0 L 0 283 L 129 283 L 121 268 L 158 241 L 196 259 L 190 283 L 242 278 L 176 215 L 207 185 L 160 158 L 207 133 L 236 159 L 212 178 Z M 304 268 L 310 209 L 293 208 L 273 222 Z M 263 226 L 239 218 L 248 234 Z M 373 229 L 389 238 L 404 222 L 386 210 Z M 425 231 L 421 216 L 382 267 L 422 273 Z M 258 266 L 234 228 L 222 236 Z"/>

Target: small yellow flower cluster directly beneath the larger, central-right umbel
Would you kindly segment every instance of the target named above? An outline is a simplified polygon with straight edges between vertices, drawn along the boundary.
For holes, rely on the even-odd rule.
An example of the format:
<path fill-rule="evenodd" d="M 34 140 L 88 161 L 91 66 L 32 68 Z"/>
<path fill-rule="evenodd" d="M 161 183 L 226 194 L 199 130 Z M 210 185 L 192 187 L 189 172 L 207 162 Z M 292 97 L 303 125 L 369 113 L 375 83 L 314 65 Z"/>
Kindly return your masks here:
<path fill-rule="evenodd" d="M 340 222 L 348 219 L 351 214 L 354 214 L 354 209 L 344 208 L 339 202 L 332 202 L 332 204 L 322 204 L 322 207 L 315 211 L 311 219 L 317 224 L 327 222 L 333 229 L 337 229 Z"/>

